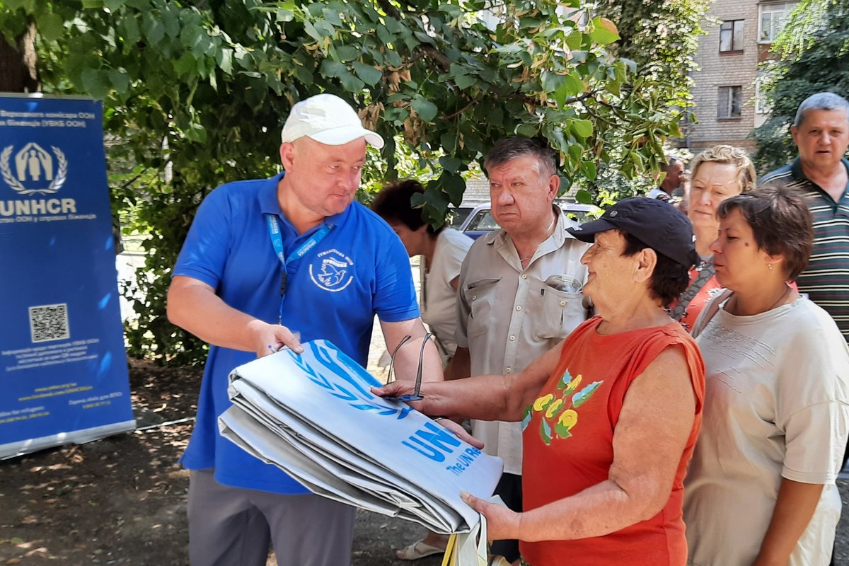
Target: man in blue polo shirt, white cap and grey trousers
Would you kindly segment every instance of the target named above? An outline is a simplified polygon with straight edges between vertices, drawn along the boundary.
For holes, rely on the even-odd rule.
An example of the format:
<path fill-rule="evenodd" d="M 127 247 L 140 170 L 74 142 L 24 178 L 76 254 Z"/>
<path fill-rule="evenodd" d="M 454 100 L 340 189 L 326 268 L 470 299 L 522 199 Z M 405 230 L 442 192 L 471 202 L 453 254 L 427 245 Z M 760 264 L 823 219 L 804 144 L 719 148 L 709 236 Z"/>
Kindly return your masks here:
<path fill-rule="evenodd" d="M 329 339 L 365 366 L 374 315 L 399 379 L 415 378 L 424 325 L 407 252 L 392 229 L 354 203 L 365 128 L 344 100 L 319 94 L 292 108 L 283 128 L 284 173 L 232 182 L 200 205 L 168 291 L 171 322 L 208 342 L 198 414 L 183 455 L 189 559 L 194 565 L 351 563 L 355 509 L 309 493 L 278 468 L 218 434 L 233 367 L 299 340 Z M 418 345 L 416 344 L 418 342 Z M 441 379 L 427 345 L 424 380 Z"/>

